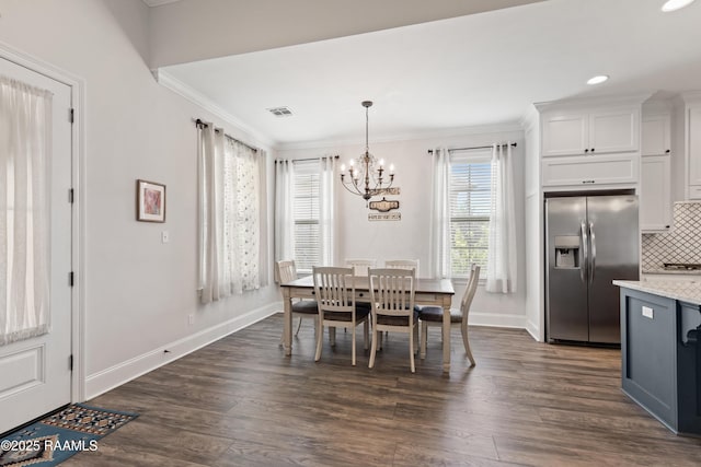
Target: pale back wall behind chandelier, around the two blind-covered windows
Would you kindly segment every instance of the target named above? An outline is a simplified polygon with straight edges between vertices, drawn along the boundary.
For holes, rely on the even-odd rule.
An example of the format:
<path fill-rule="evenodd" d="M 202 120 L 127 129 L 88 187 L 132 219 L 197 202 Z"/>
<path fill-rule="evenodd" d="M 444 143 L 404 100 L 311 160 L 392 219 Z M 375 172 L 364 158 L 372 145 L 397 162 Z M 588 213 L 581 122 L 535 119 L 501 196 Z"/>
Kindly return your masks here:
<path fill-rule="evenodd" d="M 344 258 L 377 258 L 381 265 L 384 259 L 411 258 L 420 260 L 421 276 L 427 276 L 429 268 L 429 215 L 430 215 L 430 173 L 432 156 L 429 149 L 463 148 L 513 141 L 515 149 L 515 180 L 517 250 L 518 250 L 518 290 L 514 294 L 486 293 L 481 287 L 475 295 L 471 312 L 471 324 L 525 327 L 525 240 L 524 240 L 524 133 L 516 126 L 483 129 L 464 129 L 461 135 L 447 137 L 424 137 L 402 141 L 370 141 L 370 152 L 378 159 L 384 159 L 397 166 L 395 186 L 401 194 L 388 199 L 400 201 L 401 221 L 368 221 L 369 211 L 363 198 L 341 188 L 340 195 L 340 248 L 338 264 Z M 277 152 L 280 159 L 303 159 L 327 154 L 338 154 L 341 162 L 357 157 L 365 149 L 365 142 L 354 145 L 334 145 L 285 149 Z M 338 183 L 340 185 L 340 183 Z M 398 212 L 398 211 L 392 211 Z M 458 295 L 453 304 L 459 303 L 464 282 L 455 283 Z"/>

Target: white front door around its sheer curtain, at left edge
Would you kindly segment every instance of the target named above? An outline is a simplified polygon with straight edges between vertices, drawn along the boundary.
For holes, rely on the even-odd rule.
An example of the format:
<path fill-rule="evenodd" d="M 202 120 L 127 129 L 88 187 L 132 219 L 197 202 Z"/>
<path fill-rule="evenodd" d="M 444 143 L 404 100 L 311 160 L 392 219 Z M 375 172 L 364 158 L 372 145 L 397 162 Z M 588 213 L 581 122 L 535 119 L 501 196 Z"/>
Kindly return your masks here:
<path fill-rule="evenodd" d="M 2 58 L 0 75 L 54 94 L 49 162 L 50 325 L 48 334 L 0 346 L 0 433 L 3 433 L 70 402 L 71 87 Z M 0 189 L 7 189 L 4 180 L 0 182 Z M 7 215 L 7 211 L 0 215 Z M 0 288 L 7 289 L 7 283 L 0 282 Z M 5 307 L 7 303 L 0 303 L 0 312 Z"/>

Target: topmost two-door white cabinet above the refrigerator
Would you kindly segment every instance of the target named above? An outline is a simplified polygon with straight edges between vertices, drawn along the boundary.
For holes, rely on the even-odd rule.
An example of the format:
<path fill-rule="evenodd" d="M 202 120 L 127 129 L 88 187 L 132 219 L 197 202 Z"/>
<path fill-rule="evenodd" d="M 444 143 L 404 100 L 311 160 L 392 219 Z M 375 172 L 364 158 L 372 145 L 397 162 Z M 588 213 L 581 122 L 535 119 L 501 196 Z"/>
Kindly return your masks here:
<path fill-rule="evenodd" d="M 640 109 L 547 113 L 541 137 L 543 156 L 634 152 L 640 148 Z"/>

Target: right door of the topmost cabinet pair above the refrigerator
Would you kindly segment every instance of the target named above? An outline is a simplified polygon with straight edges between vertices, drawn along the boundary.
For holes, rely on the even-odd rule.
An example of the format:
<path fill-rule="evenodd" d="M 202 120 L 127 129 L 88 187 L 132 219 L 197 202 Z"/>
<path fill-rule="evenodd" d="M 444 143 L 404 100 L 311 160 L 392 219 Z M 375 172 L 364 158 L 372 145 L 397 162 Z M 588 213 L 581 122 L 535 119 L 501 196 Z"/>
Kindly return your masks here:
<path fill-rule="evenodd" d="M 589 115 L 589 153 L 636 151 L 640 147 L 640 113 L 635 109 Z"/>

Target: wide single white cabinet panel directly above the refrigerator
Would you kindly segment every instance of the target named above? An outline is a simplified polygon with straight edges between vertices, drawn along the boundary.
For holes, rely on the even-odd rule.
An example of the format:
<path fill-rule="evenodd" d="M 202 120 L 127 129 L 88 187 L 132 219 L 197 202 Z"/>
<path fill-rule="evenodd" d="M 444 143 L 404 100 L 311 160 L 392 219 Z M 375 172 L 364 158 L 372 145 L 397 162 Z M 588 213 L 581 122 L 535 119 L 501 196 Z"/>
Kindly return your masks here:
<path fill-rule="evenodd" d="M 542 185 L 598 186 L 634 184 L 639 178 L 637 154 L 604 154 L 545 157 L 542 161 Z"/>

